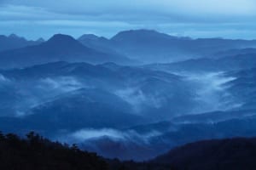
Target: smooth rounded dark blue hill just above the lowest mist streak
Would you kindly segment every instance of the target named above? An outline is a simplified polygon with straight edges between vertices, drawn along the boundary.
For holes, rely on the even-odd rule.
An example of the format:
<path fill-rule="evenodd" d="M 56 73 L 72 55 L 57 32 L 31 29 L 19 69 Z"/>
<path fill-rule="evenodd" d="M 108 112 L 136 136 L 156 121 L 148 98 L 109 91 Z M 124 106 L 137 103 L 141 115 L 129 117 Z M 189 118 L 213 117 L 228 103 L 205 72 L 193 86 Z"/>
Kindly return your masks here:
<path fill-rule="evenodd" d="M 34 130 L 47 136 L 83 128 L 121 128 L 143 122 L 118 96 L 100 89 L 78 89 L 38 104 L 26 115 L 0 116 L 4 132 Z M 15 127 L 10 125 L 15 124 Z"/>

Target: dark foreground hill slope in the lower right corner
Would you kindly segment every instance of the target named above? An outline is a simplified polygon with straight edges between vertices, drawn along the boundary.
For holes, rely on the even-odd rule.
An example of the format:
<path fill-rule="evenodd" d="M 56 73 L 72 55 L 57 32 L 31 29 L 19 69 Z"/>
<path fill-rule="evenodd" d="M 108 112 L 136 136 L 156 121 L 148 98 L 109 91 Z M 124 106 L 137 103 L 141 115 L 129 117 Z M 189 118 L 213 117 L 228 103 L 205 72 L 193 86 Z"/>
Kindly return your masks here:
<path fill-rule="evenodd" d="M 255 149 L 255 138 L 206 140 L 178 147 L 150 162 L 173 169 L 254 169 Z"/>

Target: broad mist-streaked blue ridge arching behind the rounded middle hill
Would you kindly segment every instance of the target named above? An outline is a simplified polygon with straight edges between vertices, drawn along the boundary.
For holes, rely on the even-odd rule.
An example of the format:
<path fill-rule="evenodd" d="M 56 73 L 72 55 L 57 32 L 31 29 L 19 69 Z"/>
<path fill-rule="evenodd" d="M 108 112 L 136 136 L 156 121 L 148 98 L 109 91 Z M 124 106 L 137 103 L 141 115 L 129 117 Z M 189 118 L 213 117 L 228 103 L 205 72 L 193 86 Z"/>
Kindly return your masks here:
<path fill-rule="evenodd" d="M 3 113 L 8 108 L 8 112 L 14 111 L 10 115 L 15 110 L 26 112 L 25 108 L 79 88 L 102 89 L 114 94 L 131 105 L 132 113 L 152 120 L 188 112 L 195 105 L 192 88 L 182 77 L 137 66 L 55 62 L 0 71 L 0 75 L 4 80 L 0 82 L 0 91 L 4 92 L 0 97 L 4 106 L 0 109 L 4 109 Z M 182 98 L 183 95 L 187 97 Z M 187 106 L 180 107 L 179 103 Z"/>

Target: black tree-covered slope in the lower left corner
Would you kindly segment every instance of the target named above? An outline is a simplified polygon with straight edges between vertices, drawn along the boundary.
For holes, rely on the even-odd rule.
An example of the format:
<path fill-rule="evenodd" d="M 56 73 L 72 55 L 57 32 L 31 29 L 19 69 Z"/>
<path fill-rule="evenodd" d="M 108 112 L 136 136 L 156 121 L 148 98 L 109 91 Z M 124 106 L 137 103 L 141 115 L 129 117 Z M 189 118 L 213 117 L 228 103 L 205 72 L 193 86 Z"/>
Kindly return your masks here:
<path fill-rule="evenodd" d="M 36 133 L 26 139 L 0 133 L 1 170 L 105 170 L 108 163 L 95 153 L 79 150 L 59 142 L 51 142 Z"/>

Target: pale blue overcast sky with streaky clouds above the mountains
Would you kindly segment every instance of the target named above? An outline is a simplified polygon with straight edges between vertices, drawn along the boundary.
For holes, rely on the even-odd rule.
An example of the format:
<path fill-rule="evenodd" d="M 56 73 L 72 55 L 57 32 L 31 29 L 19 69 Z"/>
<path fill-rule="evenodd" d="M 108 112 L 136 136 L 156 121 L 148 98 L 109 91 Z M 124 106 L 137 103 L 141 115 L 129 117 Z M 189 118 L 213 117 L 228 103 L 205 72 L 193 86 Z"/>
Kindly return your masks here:
<path fill-rule="evenodd" d="M 0 34 L 112 37 L 154 29 L 176 36 L 256 39 L 256 0 L 0 0 Z"/>

